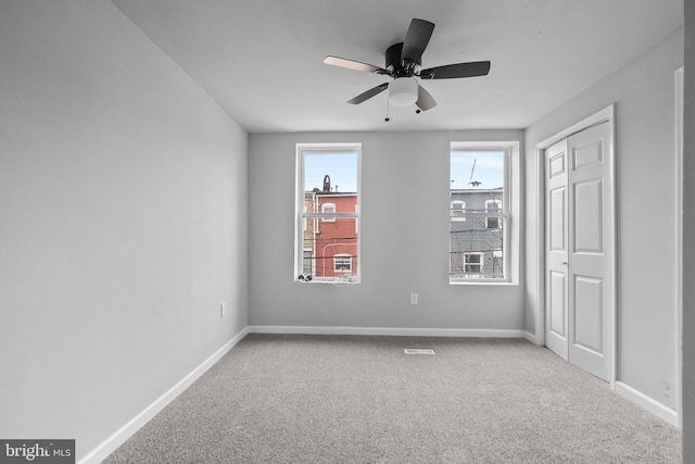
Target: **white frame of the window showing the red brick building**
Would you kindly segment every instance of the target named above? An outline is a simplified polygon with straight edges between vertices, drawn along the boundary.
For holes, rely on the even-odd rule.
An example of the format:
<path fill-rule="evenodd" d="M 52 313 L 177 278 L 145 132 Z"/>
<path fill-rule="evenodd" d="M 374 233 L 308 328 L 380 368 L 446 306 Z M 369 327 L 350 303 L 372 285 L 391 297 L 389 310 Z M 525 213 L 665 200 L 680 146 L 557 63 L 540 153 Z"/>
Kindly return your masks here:
<path fill-rule="evenodd" d="M 355 153 L 357 155 L 357 196 L 356 204 L 353 212 L 336 212 L 332 213 L 324 211 L 305 211 L 304 208 L 304 154 L 305 153 Z M 296 162 L 295 162 L 295 226 L 294 226 L 294 281 L 295 283 L 318 283 L 318 284 L 359 284 L 362 274 L 362 260 L 357 261 L 357 265 L 354 265 L 354 259 L 351 255 L 351 272 L 350 276 L 336 276 L 336 277 L 316 277 L 312 279 L 300 278 L 303 276 L 304 269 L 304 222 L 306 218 L 320 218 L 321 222 L 334 222 L 337 218 L 354 218 L 355 220 L 355 233 L 357 236 L 357 250 L 355 256 L 362 256 L 362 234 L 361 234 L 361 221 L 359 211 L 362 210 L 362 143 L 361 142 L 345 142 L 345 143 L 296 143 Z M 329 204 L 329 203 L 324 203 Z M 334 208 L 334 204 L 333 204 Z M 321 208 L 323 209 L 323 208 Z M 318 221 L 314 221 L 316 224 Z M 340 254 L 338 254 L 340 255 Z"/>

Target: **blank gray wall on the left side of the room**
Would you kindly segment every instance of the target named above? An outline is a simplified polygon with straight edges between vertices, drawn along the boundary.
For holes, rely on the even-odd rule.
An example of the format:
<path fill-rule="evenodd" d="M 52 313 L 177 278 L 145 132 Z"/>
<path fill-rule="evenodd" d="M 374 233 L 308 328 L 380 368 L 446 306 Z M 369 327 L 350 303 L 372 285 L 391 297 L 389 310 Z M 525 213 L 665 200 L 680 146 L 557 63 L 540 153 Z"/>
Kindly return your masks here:
<path fill-rule="evenodd" d="M 247 326 L 248 136 L 105 0 L 3 0 L 0 67 L 0 437 L 79 459 Z"/>

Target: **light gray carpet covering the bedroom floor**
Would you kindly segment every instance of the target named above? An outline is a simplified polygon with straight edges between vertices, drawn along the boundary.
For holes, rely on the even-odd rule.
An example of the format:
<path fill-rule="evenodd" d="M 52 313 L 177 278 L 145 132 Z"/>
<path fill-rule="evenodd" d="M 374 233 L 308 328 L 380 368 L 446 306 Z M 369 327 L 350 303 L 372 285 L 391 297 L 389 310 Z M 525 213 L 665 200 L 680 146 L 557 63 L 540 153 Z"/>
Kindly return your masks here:
<path fill-rule="evenodd" d="M 525 340 L 251 335 L 124 462 L 680 463 L 681 434 Z"/>

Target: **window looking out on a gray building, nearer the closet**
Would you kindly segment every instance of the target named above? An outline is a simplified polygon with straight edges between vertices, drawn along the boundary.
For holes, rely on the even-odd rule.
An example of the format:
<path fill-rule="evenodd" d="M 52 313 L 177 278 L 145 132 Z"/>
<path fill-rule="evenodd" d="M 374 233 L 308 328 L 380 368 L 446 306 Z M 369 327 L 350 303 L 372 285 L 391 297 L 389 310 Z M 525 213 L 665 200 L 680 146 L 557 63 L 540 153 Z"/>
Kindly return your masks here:
<path fill-rule="evenodd" d="M 450 284 L 513 280 L 509 172 L 518 149 L 518 142 L 452 143 Z"/>

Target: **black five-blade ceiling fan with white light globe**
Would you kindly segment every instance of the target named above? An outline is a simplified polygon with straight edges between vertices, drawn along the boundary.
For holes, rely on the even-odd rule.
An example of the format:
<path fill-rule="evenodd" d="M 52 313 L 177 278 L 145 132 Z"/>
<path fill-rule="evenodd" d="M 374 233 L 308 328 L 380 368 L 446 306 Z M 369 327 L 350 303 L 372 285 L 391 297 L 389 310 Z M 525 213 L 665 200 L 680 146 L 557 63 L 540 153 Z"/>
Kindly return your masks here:
<path fill-rule="evenodd" d="M 485 76 L 490 72 L 489 61 L 447 64 L 422 70 L 422 52 L 430 41 L 432 30 L 434 30 L 433 23 L 414 18 L 405 35 L 405 41 L 394 43 L 387 49 L 384 67 L 339 57 L 326 57 L 324 63 L 366 73 L 383 74 L 393 78 L 393 81 L 380 84 L 348 101 L 350 104 L 359 104 L 389 89 L 389 103 L 399 106 L 415 103 L 418 113 L 420 110 L 427 111 L 437 106 L 437 102 L 416 78 L 453 79 Z"/>

